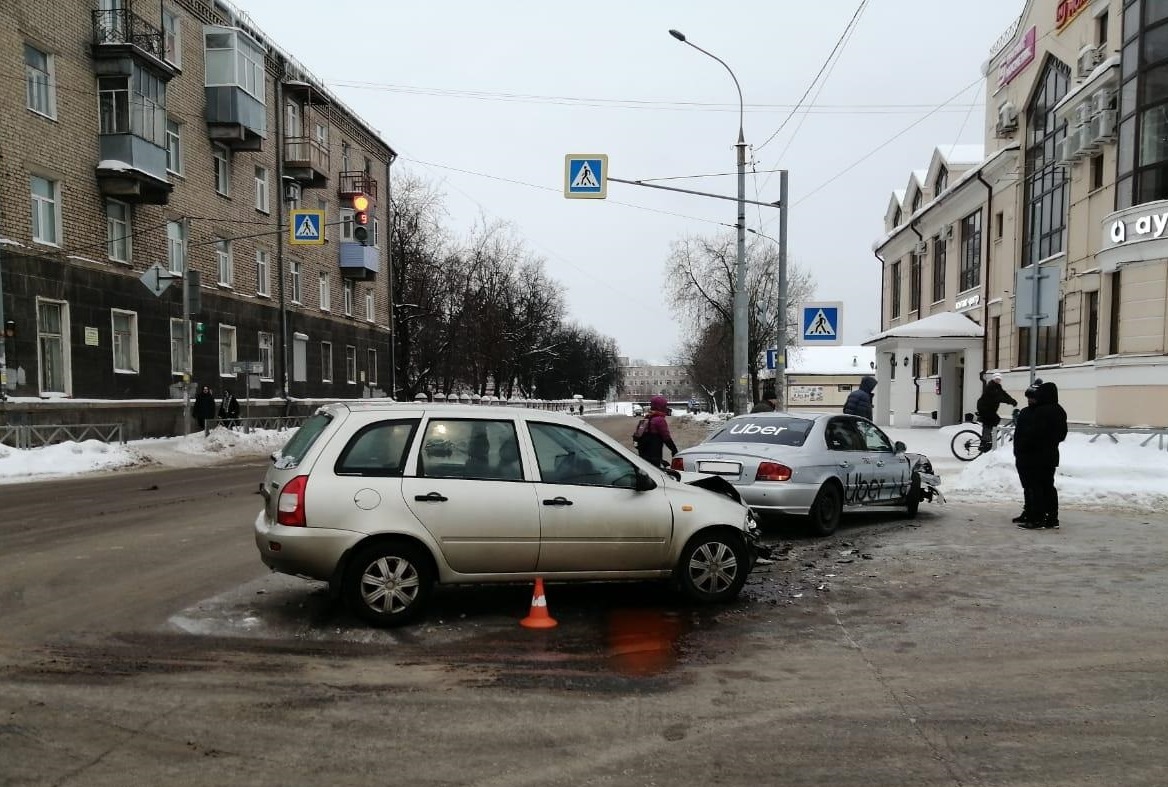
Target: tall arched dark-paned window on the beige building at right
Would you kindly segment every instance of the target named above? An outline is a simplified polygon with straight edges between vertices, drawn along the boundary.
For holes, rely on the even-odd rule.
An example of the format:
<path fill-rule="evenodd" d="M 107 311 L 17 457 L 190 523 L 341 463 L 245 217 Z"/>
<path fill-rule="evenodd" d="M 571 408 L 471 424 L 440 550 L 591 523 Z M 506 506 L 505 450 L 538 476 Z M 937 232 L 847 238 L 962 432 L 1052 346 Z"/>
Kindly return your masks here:
<path fill-rule="evenodd" d="M 1063 250 L 1066 227 L 1066 172 L 1055 149 L 1066 138 L 1066 123 L 1058 123 L 1055 105 L 1066 96 L 1070 69 L 1049 58 L 1030 100 L 1026 141 L 1026 238 L 1022 265 Z"/>

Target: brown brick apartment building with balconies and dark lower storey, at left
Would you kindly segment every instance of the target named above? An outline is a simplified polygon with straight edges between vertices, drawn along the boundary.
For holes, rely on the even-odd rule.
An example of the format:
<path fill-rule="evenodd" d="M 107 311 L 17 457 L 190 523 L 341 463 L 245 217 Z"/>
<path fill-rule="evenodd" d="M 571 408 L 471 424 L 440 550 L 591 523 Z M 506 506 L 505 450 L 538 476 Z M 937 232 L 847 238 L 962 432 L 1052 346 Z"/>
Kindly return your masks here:
<path fill-rule="evenodd" d="M 166 398 L 390 386 L 394 151 L 222 0 L 0 4 L 7 394 Z M 368 239 L 355 242 L 364 195 Z M 324 211 L 293 245 L 291 209 Z M 140 277 L 174 274 L 160 295 Z M 199 274 L 188 339 L 183 271 Z M 181 386 L 181 385 L 180 385 Z"/>

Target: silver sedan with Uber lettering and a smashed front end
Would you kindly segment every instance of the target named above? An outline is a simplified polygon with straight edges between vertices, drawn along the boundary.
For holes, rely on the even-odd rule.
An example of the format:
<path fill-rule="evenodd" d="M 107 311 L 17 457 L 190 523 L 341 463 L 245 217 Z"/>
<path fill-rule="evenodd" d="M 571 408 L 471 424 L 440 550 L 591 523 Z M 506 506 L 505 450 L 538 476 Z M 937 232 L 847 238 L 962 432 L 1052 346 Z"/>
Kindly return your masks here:
<path fill-rule="evenodd" d="M 677 453 L 677 471 L 717 475 L 759 514 L 797 514 L 829 535 L 847 506 L 903 506 L 940 499 L 927 457 L 908 453 L 871 422 L 835 413 L 763 412 L 731 418 Z"/>

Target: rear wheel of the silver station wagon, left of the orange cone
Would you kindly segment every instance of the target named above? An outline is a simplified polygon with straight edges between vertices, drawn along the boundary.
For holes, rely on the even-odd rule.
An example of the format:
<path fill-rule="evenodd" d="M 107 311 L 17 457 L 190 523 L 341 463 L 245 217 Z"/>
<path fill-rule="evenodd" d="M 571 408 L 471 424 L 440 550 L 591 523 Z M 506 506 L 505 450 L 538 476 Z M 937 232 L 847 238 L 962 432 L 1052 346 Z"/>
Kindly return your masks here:
<path fill-rule="evenodd" d="M 353 555 L 341 593 L 367 624 L 387 628 L 420 614 L 433 591 L 430 556 L 402 541 L 384 541 Z"/>

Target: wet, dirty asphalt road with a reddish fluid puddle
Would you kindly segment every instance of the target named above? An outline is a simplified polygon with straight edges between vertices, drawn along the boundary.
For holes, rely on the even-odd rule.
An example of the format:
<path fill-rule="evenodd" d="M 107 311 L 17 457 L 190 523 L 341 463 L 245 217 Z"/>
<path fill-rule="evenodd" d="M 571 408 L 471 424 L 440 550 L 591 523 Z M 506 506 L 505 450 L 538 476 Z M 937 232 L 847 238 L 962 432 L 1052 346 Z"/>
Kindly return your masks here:
<path fill-rule="evenodd" d="M 1162 516 L 861 514 L 725 607 L 452 588 L 380 632 L 265 572 L 262 471 L 0 487 L 0 785 L 1168 783 Z"/>

